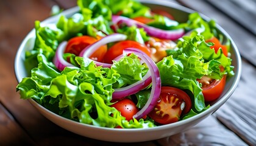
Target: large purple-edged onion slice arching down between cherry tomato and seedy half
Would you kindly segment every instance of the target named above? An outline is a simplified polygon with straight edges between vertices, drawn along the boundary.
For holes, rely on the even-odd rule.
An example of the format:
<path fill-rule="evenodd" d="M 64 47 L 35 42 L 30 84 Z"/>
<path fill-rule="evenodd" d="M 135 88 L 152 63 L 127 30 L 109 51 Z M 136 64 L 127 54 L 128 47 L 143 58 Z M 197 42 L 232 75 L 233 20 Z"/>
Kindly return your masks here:
<path fill-rule="evenodd" d="M 138 55 L 138 57 L 141 58 L 141 60 L 143 60 L 144 63 L 147 64 L 149 68 L 148 72 L 151 74 L 151 78 L 152 78 L 152 89 L 151 89 L 151 94 L 149 96 L 149 99 L 144 105 L 144 107 L 140 111 L 138 111 L 137 114 L 133 116 L 136 119 L 140 119 L 141 117 L 151 112 L 155 104 L 157 103 L 157 99 L 160 96 L 160 92 L 161 92 L 161 78 L 160 78 L 160 73 L 158 71 L 157 65 L 148 55 L 146 55 L 144 52 L 141 52 L 141 50 L 136 48 L 130 47 L 130 48 L 124 49 L 124 54 L 132 54 L 132 53 L 135 55 Z M 134 86 L 134 88 L 137 88 L 137 86 Z"/>

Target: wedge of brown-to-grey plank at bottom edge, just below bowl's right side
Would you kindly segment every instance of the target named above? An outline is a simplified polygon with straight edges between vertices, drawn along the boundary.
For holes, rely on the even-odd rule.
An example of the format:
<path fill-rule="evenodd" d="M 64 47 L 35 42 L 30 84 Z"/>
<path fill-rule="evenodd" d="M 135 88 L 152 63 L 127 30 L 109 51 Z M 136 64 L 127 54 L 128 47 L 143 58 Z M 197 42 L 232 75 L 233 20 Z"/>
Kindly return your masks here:
<path fill-rule="evenodd" d="M 247 145 L 232 131 L 209 116 L 189 130 L 158 140 L 161 145 Z"/>

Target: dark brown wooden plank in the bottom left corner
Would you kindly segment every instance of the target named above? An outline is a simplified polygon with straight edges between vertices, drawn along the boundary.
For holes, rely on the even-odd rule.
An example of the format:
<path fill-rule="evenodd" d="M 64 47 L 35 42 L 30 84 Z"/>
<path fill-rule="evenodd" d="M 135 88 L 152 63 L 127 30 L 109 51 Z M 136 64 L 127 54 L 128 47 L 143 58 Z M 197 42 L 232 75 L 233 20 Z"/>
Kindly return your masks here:
<path fill-rule="evenodd" d="M 26 131 L 0 102 L 0 145 L 34 145 Z"/>

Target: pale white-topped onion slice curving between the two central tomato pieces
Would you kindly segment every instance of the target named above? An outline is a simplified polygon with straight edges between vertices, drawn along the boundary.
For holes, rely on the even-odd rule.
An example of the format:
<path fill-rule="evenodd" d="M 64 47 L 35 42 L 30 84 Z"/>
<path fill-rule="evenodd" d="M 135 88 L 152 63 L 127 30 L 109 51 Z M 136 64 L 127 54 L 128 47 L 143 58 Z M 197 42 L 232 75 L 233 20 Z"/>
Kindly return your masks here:
<path fill-rule="evenodd" d="M 115 41 L 123 41 L 123 40 L 126 40 L 127 36 L 126 35 L 123 35 L 123 34 L 120 34 L 120 33 L 113 33 L 112 35 L 108 35 L 108 36 L 105 36 L 104 38 L 102 38 L 101 40 L 99 41 L 96 41 L 95 43 L 93 44 L 90 44 L 88 45 L 87 47 L 85 47 L 85 49 L 83 49 L 79 56 L 80 57 L 84 57 L 90 61 L 94 61 L 94 63 L 97 65 L 97 66 L 102 66 L 104 68 L 110 68 L 112 66 L 112 64 L 108 64 L 108 63 L 101 63 L 99 61 L 95 61 L 95 60 L 91 60 L 89 57 L 101 46 L 103 46 L 104 44 L 107 44 L 107 43 L 112 43 L 112 42 L 115 42 Z"/>

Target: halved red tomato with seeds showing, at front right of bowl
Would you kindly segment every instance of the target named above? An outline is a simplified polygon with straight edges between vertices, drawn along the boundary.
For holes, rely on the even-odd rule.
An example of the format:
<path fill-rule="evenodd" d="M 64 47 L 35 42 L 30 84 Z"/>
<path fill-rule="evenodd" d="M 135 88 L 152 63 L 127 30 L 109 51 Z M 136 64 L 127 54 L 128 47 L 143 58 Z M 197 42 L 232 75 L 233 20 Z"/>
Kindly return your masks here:
<path fill-rule="evenodd" d="M 174 123 L 180 119 L 181 114 L 190 111 L 191 105 L 190 96 L 186 92 L 178 88 L 162 86 L 157 105 L 149 113 L 149 117 L 160 124 Z"/>

